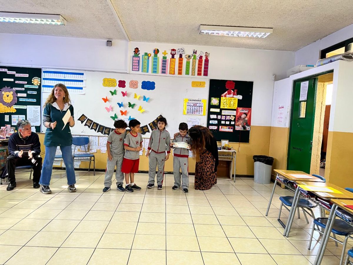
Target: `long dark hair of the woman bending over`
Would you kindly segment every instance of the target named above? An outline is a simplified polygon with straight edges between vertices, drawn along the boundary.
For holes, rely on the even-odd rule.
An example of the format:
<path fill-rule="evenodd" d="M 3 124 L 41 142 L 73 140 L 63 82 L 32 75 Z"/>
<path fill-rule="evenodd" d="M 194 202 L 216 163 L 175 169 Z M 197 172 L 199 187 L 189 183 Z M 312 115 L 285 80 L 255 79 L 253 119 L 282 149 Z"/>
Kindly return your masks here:
<path fill-rule="evenodd" d="M 195 125 L 189 129 L 189 136 L 192 140 L 191 151 L 195 157 L 196 162 L 199 162 L 200 155 L 206 148 L 206 142 L 210 143 L 213 135 L 207 127 Z"/>

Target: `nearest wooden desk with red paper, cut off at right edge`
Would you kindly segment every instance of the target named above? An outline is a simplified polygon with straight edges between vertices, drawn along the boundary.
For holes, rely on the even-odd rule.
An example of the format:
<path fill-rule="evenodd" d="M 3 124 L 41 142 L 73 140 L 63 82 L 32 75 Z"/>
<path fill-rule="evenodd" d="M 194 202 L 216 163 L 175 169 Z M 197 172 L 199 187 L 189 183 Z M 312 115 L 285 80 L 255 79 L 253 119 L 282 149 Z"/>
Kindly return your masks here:
<path fill-rule="evenodd" d="M 350 192 L 351 193 L 351 192 Z M 319 246 L 319 249 L 317 251 L 317 255 L 316 255 L 316 259 L 314 262 L 314 265 L 319 265 L 321 264 L 322 258 L 324 256 L 324 252 L 327 246 L 327 242 L 329 241 L 329 237 L 332 231 L 332 227 L 335 221 L 335 217 L 336 217 L 336 209 L 337 207 L 342 208 L 343 210 L 353 214 L 353 210 L 345 207 L 345 205 L 353 205 L 353 193 L 351 193 L 351 198 L 350 199 L 346 199 L 346 200 L 342 200 L 342 199 L 332 199 L 331 202 L 333 203 L 332 207 L 331 207 L 331 211 L 330 211 L 330 215 L 327 219 L 327 223 L 326 223 L 326 229 L 324 231 L 324 234 L 322 235 L 322 240 Z"/>

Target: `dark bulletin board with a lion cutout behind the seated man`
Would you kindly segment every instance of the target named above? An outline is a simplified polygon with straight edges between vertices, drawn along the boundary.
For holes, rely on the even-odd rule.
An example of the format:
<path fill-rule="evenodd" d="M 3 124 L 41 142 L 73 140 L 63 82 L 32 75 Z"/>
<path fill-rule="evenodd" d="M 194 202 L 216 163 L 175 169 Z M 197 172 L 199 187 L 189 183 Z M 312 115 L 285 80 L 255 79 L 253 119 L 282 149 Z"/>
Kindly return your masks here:
<path fill-rule="evenodd" d="M 1 126 L 16 127 L 18 120 L 28 119 L 40 132 L 41 78 L 41 68 L 0 66 Z"/>

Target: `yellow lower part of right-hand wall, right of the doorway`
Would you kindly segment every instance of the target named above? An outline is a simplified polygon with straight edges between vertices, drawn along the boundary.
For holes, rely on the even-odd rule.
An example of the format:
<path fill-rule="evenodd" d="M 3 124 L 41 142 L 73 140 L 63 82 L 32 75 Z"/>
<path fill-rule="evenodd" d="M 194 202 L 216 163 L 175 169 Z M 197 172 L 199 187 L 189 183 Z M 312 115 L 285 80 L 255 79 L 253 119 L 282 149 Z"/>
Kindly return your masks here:
<path fill-rule="evenodd" d="M 329 131 L 325 178 L 342 188 L 353 188 L 353 133 Z"/>

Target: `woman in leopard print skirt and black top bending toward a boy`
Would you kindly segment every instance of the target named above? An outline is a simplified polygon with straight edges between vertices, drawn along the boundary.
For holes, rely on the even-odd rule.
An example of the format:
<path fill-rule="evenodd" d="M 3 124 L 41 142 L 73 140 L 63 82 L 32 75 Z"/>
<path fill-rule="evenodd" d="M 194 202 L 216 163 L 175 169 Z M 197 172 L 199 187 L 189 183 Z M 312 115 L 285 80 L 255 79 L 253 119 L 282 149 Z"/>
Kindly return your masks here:
<path fill-rule="evenodd" d="M 195 125 L 189 129 L 191 151 L 196 160 L 195 189 L 208 190 L 217 183 L 218 148 L 211 131 Z"/>

